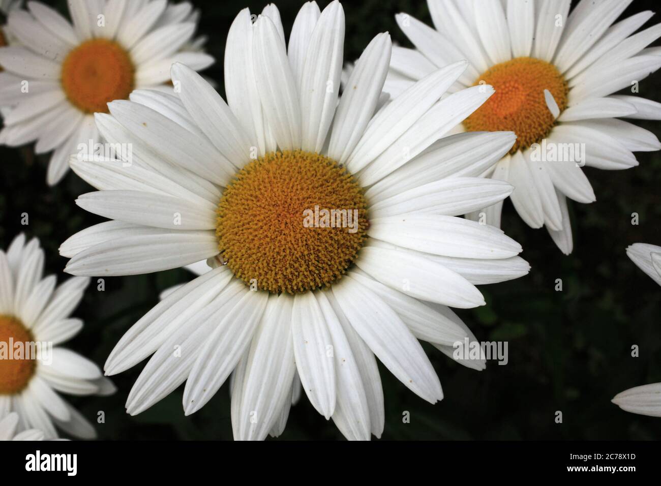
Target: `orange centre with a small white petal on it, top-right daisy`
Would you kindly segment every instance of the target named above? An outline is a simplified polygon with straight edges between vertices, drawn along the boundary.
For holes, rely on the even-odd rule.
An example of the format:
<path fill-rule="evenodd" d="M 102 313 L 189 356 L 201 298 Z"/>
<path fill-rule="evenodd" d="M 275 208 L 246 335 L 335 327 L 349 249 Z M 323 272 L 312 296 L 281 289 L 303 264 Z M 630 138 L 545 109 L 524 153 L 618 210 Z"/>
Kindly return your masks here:
<path fill-rule="evenodd" d="M 514 132 L 512 153 L 546 138 L 555 118 L 544 97 L 548 89 L 560 111 L 567 106 L 568 86 L 557 67 L 533 58 L 496 64 L 475 81 L 492 85 L 496 92 L 464 120 L 468 132 Z"/>

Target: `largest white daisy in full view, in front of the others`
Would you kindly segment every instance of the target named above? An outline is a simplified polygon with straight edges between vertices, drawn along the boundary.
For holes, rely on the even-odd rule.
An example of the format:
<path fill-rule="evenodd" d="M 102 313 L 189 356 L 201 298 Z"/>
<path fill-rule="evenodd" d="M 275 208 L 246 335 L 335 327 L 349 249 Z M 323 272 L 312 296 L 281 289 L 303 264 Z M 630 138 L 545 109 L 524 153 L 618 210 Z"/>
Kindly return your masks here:
<path fill-rule="evenodd" d="M 338 101 L 343 44 L 338 1 L 323 13 L 303 5 L 288 45 L 274 5 L 254 24 L 245 9 L 227 36 L 227 103 L 175 63 L 178 97 L 136 91 L 96 115 L 105 140 L 132 144 L 133 163 L 72 157 L 98 189 L 77 204 L 112 221 L 63 243 L 66 271 L 216 267 L 169 294 L 108 357 L 113 375 L 153 354 L 128 413 L 184 381 L 184 412 L 194 413 L 233 372 L 235 438 L 263 439 L 282 432 L 299 376 L 347 438 L 380 436 L 375 356 L 423 399 L 442 399 L 418 339 L 451 355 L 475 337 L 447 306 L 484 305 L 475 284 L 528 272 L 518 243 L 457 217 L 510 194 L 510 184 L 475 176 L 514 134 L 440 140 L 491 87 L 441 100 L 459 62 L 377 111 L 391 54 L 379 34 Z"/>

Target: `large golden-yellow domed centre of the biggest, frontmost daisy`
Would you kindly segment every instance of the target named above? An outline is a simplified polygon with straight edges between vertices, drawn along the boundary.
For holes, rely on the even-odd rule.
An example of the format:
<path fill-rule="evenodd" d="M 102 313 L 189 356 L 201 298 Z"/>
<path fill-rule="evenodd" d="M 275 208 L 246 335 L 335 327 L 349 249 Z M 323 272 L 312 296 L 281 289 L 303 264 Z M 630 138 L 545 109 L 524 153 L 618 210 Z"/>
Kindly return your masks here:
<path fill-rule="evenodd" d="M 217 209 L 219 251 L 258 290 L 295 294 L 327 287 L 366 239 L 366 201 L 334 160 L 268 153 L 241 169 Z"/>

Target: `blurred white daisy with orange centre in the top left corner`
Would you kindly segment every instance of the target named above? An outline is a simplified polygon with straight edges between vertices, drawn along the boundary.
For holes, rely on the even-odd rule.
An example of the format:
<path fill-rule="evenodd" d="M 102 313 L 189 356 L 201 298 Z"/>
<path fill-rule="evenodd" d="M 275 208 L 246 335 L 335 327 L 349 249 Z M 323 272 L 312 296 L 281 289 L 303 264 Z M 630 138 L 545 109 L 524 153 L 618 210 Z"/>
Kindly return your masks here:
<path fill-rule="evenodd" d="M 213 58 L 191 42 L 190 3 L 166 0 L 70 0 L 73 24 L 43 3 L 9 14 L 7 30 L 20 46 L 0 49 L 0 106 L 13 106 L 0 142 L 36 141 L 52 151 L 48 184 L 59 182 L 69 156 L 99 141 L 95 112 L 128 99 L 136 88 L 171 89 L 169 70 L 184 61 L 204 69 Z M 188 44 L 188 45 L 187 45 Z"/>

